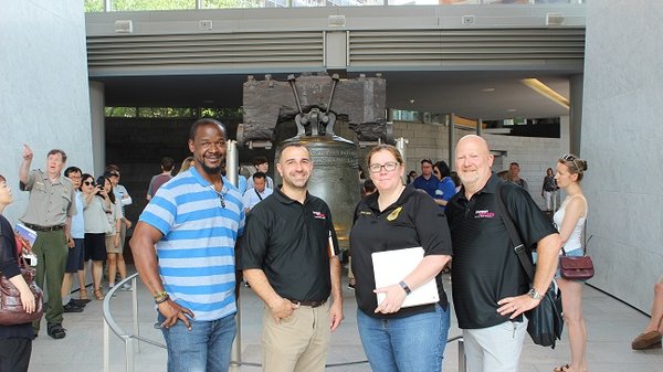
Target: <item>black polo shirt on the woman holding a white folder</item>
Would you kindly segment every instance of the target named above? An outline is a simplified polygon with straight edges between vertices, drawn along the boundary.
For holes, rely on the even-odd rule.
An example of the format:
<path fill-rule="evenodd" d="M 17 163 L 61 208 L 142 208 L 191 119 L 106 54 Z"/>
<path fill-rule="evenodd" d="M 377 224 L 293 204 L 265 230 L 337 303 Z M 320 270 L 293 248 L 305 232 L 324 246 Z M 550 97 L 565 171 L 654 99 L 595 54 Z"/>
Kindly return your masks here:
<path fill-rule="evenodd" d="M 413 185 L 408 185 L 396 203 L 380 212 L 378 193 L 359 202 L 350 231 L 352 273 L 357 306 L 366 315 L 380 318 L 400 318 L 413 313 L 434 311 L 433 305 L 402 308 L 396 313 L 375 313 L 378 299 L 371 253 L 421 246 L 424 256 L 451 255 L 451 237 L 444 212 L 435 202 Z M 435 277 L 440 305 L 448 306 L 442 276 Z"/>

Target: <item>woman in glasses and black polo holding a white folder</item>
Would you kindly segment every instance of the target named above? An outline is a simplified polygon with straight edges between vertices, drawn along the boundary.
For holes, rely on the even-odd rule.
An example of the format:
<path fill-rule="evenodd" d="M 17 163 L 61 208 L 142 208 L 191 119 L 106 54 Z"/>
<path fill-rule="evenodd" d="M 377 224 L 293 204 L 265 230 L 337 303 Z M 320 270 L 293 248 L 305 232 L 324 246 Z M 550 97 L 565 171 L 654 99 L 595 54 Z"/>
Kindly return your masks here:
<path fill-rule="evenodd" d="M 403 159 L 390 145 L 367 157 L 377 192 L 355 210 L 350 232 L 357 327 L 375 372 L 438 372 L 449 332 L 449 302 L 440 272 L 451 258 L 451 237 L 444 213 L 423 192 L 403 185 Z M 393 284 L 376 288 L 371 254 L 422 247 L 423 259 Z M 440 300 L 402 307 L 407 296 L 435 280 Z M 377 295 L 385 295 L 378 304 Z"/>

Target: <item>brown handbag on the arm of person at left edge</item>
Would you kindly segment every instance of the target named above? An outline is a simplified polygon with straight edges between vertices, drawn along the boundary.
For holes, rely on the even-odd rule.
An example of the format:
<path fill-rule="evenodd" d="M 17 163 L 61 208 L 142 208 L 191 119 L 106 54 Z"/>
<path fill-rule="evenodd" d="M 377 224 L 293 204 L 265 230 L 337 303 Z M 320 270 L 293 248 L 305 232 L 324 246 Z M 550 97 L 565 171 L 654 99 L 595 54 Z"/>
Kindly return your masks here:
<path fill-rule="evenodd" d="M 31 251 L 23 245 L 23 249 Z M 0 326 L 14 326 L 32 322 L 41 319 L 43 315 L 43 293 L 34 283 L 34 268 L 30 267 L 23 255 L 19 255 L 21 275 L 28 284 L 30 291 L 34 295 L 34 311 L 31 313 L 23 310 L 21 293 L 4 274 L 0 273 Z"/>

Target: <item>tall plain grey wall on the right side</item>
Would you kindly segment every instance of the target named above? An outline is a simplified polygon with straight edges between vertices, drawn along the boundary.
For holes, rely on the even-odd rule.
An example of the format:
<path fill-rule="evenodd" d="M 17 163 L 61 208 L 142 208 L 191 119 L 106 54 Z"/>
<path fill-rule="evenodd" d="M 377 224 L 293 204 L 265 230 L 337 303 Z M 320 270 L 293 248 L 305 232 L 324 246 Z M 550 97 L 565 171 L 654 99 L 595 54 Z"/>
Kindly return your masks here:
<path fill-rule="evenodd" d="M 589 1 L 588 12 L 581 157 L 590 283 L 649 312 L 663 274 L 663 3 Z"/>

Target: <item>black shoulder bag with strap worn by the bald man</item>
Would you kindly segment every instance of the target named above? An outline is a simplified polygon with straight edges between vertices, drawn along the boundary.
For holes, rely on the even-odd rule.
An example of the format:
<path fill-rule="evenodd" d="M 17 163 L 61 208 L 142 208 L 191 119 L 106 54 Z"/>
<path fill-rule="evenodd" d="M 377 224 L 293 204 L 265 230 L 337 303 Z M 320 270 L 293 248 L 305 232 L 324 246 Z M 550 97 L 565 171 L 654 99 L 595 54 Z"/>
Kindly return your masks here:
<path fill-rule="evenodd" d="M 497 187 L 496 205 L 509 238 L 514 244 L 514 252 L 520 262 L 520 266 L 527 274 L 529 281 L 534 281 L 534 264 L 532 256 L 527 253 L 527 248 L 523 245 L 518 231 L 511 219 L 501 192 L 502 183 Z M 555 349 L 556 340 L 561 340 L 561 331 L 564 329 L 564 318 L 561 316 L 561 291 L 555 279 L 550 283 L 541 301 L 537 307 L 525 313 L 529 322 L 527 323 L 527 333 L 534 343 L 541 347 L 550 347 Z"/>

